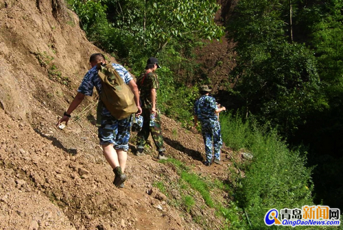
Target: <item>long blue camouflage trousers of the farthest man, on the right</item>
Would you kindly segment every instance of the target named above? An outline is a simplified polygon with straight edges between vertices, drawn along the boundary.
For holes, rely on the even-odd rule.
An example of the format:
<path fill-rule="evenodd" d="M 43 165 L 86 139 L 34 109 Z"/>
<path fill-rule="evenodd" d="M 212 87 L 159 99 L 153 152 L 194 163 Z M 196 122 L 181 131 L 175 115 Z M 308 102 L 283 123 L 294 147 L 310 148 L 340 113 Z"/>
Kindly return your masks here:
<path fill-rule="evenodd" d="M 220 159 L 220 149 L 222 149 L 222 133 L 220 131 L 220 123 L 215 124 L 201 123 L 202 138 L 204 138 L 206 160 L 212 162 L 212 148 L 214 149 L 215 159 Z"/>

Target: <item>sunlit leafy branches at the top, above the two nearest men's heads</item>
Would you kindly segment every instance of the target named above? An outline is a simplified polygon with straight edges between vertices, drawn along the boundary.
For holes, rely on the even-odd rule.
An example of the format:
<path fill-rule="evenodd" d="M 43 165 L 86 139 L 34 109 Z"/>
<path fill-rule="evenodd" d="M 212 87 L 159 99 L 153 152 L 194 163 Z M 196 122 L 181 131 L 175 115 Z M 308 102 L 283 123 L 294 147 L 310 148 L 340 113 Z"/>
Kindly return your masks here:
<path fill-rule="evenodd" d="M 155 55 L 184 37 L 219 39 L 224 29 L 213 18 L 215 1 L 68 0 L 88 39 L 131 64 Z"/>

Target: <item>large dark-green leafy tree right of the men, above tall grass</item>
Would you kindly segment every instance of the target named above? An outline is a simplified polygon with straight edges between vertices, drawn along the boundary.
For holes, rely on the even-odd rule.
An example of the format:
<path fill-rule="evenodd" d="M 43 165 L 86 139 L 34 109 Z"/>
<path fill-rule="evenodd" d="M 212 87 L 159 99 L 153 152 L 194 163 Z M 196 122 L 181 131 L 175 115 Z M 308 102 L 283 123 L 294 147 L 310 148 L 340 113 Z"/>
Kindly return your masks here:
<path fill-rule="evenodd" d="M 239 1 L 239 17 L 228 27 L 238 42 L 239 55 L 231 81 L 244 110 L 289 136 L 307 122 L 311 112 L 324 110 L 327 100 L 320 94 L 313 53 L 283 36 L 287 32 L 278 11 L 283 2 L 261 2 L 255 8 L 260 1 Z"/>

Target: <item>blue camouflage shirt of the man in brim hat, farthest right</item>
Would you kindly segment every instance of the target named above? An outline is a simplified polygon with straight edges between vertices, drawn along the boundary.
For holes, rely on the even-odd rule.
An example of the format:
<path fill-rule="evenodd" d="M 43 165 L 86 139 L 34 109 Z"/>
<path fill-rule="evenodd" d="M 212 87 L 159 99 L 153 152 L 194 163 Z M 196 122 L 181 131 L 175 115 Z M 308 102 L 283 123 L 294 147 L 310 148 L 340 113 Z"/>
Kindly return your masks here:
<path fill-rule="evenodd" d="M 214 125 L 218 120 L 218 117 L 215 114 L 215 110 L 217 109 L 218 107 L 213 97 L 202 95 L 202 97 L 194 103 L 193 115 L 198 116 L 198 120 L 200 120 L 202 125 L 206 125 L 207 123 L 209 123 L 209 125 Z"/>

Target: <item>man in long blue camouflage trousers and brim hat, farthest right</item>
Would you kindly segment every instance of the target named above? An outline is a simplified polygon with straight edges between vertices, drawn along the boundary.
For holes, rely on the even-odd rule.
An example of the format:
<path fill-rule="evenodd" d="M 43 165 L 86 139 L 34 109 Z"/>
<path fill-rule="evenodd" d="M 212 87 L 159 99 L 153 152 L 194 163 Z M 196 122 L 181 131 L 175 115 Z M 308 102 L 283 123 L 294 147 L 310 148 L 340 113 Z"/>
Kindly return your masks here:
<path fill-rule="evenodd" d="M 201 123 L 202 138 L 204 138 L 206 166 L 211 166 L 213 161 L 212 147 L 214 148 L 214 162 L 220 164 L 220 149 L 222 148 L 222 133 L 220 131 L 220 123 L 218 114 L 226 108 L 217 107 L 215 99 L 209 96 L 209 86 L 200 86 L 200 94 L 202 95 L 196 103 L 194 103 L 194 128 L 198 125 L 198 120 Z"/>

